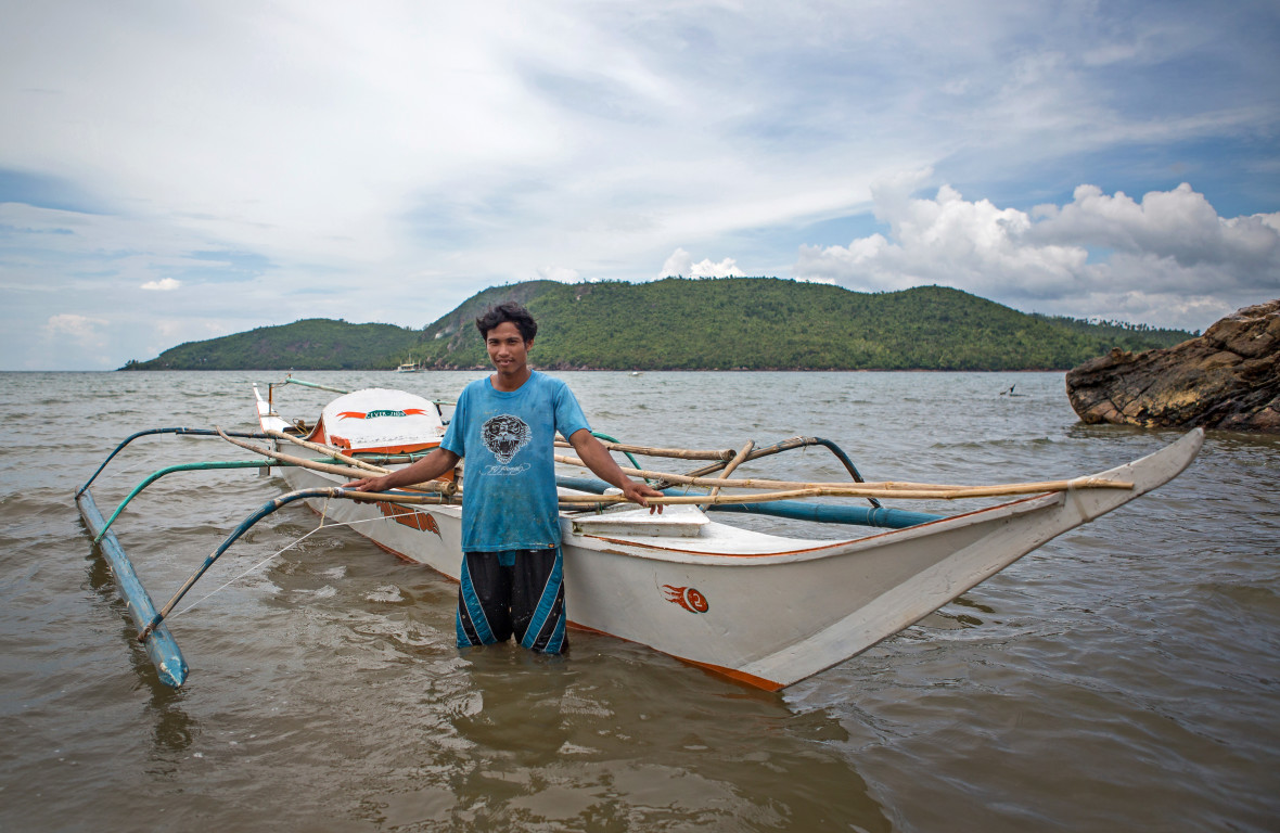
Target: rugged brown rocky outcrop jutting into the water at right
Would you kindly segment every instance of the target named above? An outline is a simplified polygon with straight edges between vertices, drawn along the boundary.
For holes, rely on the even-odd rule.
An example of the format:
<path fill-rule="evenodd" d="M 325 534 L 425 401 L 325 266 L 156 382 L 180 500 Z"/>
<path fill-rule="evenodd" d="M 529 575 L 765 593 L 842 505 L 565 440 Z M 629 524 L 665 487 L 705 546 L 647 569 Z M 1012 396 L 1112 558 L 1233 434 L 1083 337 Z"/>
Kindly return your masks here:
<path fill-rule="evenodd" d="M 1088 361 L 1066 395 L 1085 422 L 1280 434 L 1280 298 L 1176 347 Z"/>

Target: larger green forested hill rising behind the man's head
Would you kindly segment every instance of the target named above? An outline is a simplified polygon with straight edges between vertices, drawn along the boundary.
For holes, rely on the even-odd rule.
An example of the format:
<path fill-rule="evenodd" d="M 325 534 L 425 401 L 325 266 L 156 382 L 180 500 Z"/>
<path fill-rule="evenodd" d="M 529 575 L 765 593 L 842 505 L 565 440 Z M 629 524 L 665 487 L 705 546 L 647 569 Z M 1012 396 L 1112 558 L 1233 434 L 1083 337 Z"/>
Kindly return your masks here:
<path fill-rule="evenodd" d="M 612 370 L 1065 370 L 1112 347 L 1166 347 L 1190 333 L 1027 315 L 942 287 L 856 293 L 773 278 L 495 287 L 424 329 L 434 367 L 484 367 L 472 325 L 485 306 L 525 303 L 539 367 Z"/>

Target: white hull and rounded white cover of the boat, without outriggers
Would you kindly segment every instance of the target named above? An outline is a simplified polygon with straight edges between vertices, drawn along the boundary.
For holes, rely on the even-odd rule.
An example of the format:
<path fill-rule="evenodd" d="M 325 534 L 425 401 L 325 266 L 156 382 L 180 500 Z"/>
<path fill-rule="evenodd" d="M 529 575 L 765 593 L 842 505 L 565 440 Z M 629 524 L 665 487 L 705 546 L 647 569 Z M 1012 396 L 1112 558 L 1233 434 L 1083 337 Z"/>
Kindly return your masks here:
<path fill-rule="evenodd" d="M 283 418 L 257 388 L 255 397 L 262 431 L 276 436 L 275 452 L 289 450 L 293 443 L 283 435 L 302 439 L 298 422 Z M 370 389 L 330 402 L 306 440 L 358 457 L 425 452 L 443 434 L 439 404 Z M 744 530 L 710 520 L 698 505 L 662 514 L 562 507 L 570 623 L 774 691 L 858 655 L 1055 536 L 1167 482 L 1202 441 L 1196 430 L 1155 454 L 1070 481 L 1079 488 L 954 517 L 918 516 L 925 522 L 837 540 Z M 332 490 L 352 479 L 306 467 L 276 471 L 294 490 Z M 562 486 L 561 494 L 581 499 L 590 491 Z M 380 518 L 352 528 L 458 578 L 457 503 L 307 502 L 333 521 Z"/>

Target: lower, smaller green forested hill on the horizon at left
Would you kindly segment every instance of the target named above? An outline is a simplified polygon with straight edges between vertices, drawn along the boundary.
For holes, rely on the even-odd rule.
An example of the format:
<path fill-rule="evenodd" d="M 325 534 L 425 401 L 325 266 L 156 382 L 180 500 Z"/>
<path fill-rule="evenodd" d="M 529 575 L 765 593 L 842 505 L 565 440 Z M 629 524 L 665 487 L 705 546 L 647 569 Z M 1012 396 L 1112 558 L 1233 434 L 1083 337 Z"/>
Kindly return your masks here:
<path fill-rule="evenodd" d="M 306 319 L 187 342 L 122 370 L 357 370 L 394 367 L 421 333 L 390 324 Z"/>

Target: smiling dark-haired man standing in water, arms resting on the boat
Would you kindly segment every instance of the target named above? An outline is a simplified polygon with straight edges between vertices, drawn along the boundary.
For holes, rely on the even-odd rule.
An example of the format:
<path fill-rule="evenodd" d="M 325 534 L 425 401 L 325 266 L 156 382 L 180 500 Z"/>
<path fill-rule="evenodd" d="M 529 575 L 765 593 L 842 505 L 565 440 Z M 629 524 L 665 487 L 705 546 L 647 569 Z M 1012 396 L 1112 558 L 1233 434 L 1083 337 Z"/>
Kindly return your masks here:
<path fill-rule="evenodd" d="M 525 647 L 558 654 L 566 617 L 556 432 L 628 500 L 646 507 L 662 493 L 622 473 L 591 436 L 568 385 L 529 369 L 538 324 L 527 310 L 500 303 L 476 319 L 476 329 L 497 372 L 462 390 L 440 447 L 399 471 L 346 488 L 384 491 L 434 480 L 466 457 L 458 647 L 504 642 L 515 633 Z"/>

